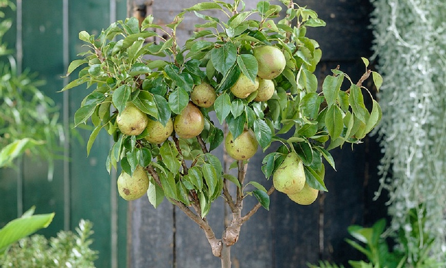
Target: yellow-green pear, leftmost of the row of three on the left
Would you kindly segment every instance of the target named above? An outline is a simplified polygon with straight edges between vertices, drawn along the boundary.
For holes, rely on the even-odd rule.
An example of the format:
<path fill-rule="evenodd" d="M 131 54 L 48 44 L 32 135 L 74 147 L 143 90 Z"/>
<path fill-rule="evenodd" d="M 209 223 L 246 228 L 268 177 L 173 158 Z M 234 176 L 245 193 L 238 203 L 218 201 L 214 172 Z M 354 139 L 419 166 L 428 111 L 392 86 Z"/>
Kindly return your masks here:
<path fill-rule="evenodd" d="M 147 126 L 148 117 L 133 103 L 128 102 L 116 117 L 116 124 L 121 132 L 128 136 L 139 135 Z"/>

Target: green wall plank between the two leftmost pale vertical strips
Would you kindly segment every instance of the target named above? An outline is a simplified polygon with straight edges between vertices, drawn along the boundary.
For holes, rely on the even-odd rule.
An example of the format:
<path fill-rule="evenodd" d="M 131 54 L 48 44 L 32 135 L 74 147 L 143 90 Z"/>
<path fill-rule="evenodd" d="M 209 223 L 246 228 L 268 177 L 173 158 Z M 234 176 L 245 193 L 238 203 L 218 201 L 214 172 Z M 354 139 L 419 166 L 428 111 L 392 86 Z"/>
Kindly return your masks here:
<path fill-rule="evenodd" d="M 39 12 L 36 12 L 38 10 Z M 24 69 L 37 72 L 40 79 L 46 81 L 42 90 L 59 105 L 62 94 L 56 93 L 63 80 L 63 32 L 61 1 L 24 1 L 22 3 L 22 45 Z M 24 160 L 23 193 L 24 209 L 35 205 L 36 213 L 55 212 L 51 228 L 40 233 L 55 235 L 57 230 L 64 229 L 64 177 L 63 161 L 55 163 L 54 177 L 51 182 L 47 178 L 47 165 Z"/>

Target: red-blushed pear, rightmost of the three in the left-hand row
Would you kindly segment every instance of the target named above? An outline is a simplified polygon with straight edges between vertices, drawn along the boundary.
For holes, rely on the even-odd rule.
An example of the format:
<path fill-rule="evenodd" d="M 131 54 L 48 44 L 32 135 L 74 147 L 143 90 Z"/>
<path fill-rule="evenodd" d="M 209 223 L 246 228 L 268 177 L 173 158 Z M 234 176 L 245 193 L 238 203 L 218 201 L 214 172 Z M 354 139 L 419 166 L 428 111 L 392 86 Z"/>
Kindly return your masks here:
<path fill-rule="evenodd" d="M 200 109 L 192 102 L 189 102 L 186 108 L 181 111 L 173 120 L 173 128 L 176 135 L 183 139 L 190 139 L 200 135 L 205 128 L 205 117 Z"/>

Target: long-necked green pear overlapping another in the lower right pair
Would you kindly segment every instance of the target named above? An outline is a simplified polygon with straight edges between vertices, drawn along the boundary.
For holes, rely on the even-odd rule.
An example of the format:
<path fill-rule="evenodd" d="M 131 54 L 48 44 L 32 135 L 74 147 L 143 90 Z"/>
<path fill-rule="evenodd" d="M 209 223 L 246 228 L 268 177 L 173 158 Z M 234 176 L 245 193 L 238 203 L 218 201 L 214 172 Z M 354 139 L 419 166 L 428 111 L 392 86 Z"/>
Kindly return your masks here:
<path fill-rule="evenodd" d="M 303 163 L 297 153 L 288 153 L 285 160 L 273 175 L 273 185 L 277 191 L 286 194 L 295 194 L 303 189 L 306 177 Z"/>

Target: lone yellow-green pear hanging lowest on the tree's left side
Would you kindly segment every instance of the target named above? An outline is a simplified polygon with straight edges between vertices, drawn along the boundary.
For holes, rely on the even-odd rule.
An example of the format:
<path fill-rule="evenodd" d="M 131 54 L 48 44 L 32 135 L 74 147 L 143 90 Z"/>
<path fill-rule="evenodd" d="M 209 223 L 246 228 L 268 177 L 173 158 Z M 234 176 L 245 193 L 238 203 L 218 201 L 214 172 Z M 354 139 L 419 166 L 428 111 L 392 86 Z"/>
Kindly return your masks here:
<path fill-rule="evenodd" d="M 126 200 L 135 200 L 147 193 L 149 189 L 149 176 L 141 166 L 136 166 L 135 171 L 130 176 L 126 172 L 121 172 L 117 181 L 118 192 Z"/>

